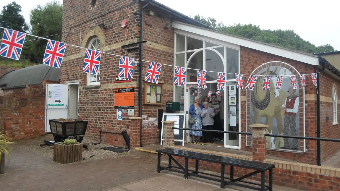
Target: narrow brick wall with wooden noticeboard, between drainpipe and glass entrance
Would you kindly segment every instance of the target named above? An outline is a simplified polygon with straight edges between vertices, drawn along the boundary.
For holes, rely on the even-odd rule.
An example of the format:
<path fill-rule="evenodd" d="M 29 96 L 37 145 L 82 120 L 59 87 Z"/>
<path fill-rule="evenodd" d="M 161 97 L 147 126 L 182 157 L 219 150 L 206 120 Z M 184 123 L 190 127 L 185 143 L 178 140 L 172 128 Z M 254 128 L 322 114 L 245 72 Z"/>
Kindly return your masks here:
<path fill-rule="evenodd" d="M 150 10 L 150 9 L 148 9 Z M 152 10 L 152 9 L 151 9 Z M 173 66 L 173 50 L 162 50 L 162 46 L 173 49 L 174 33 L 172 28 L 165 29 L 167 22 L 172 23 L 168 18 L 160 18 L 156 15 L 159 12 L 152 10 L 153 16 L 144 14 L 144 37 L 143 40 L 148 42 L 143 44 L 143 60 L 159 62 Z M 163 15 L 165 13 L 162 13 Z M 157 46 L 155 46 L 155 44 Z M 148 62 L 143 63 L 143 79 L 147 73 Z M 157 125 L 157 109 L 163 109 L 165 112 L 165 103 L 173 101 L 173 67 L 162 65 L 159 75 L 159 83 L 163 83 L 163 104 L 162 105 L 143 105 L 142 107 L 142 144 L 159 143 L 159 129 Z M 168 89 L 167 85 L 171 85 Z M 145 88 L 143 88 L 144 90 Z"/>

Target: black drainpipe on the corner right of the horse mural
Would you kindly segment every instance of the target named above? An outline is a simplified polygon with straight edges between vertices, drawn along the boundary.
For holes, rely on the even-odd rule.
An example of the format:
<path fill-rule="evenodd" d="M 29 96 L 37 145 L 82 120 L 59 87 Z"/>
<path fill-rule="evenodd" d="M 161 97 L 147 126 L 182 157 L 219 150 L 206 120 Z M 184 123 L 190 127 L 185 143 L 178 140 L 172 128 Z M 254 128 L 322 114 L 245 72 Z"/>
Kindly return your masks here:
<path fill-rule="evenodd" d="M 319 64 L 322 68 L 319 68 L 317 73 L 317 138 L 320 138 L 320 73 L 326 68 L 326 59 L 319 57 Z M 321 166 L 321 143 L 317 140 L 317 165 Z"/>

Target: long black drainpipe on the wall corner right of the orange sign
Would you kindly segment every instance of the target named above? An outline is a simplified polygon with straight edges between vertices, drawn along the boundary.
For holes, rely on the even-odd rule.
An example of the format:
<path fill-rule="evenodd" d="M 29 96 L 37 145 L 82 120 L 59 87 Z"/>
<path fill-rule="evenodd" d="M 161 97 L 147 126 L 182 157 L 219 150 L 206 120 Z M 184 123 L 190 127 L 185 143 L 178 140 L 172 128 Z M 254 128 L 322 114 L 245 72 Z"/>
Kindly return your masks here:
<path fill-rule="evenodd" d="M 141 6 L 141 10 L 140 10 L 140 37 L 139 37 L 139 41 L 143 41 L 143 33 L 144 33 L 144 15 L 143 15 L 143 10 L 145 7 L 147 7 L 149 5 L 149 2 L 144 5 Z M 138 92 L 138 113 L 139 113 L 139 117 L 142 117 L 142 91 L 143 91 L 143 62 L 141 60 L 143 60 L 143 44 L 140 43 L 139 44 L 139 92 Z M 142 146 L 142 120 L 140 120 L 140 146 Z"/>

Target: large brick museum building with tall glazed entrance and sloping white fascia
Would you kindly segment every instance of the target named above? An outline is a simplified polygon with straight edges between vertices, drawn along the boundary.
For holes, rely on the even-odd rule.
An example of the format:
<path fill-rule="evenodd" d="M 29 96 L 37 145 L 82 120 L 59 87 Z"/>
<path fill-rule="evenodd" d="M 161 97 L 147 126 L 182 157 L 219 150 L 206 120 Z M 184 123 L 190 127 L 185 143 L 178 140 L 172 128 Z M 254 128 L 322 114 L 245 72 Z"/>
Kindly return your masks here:
<path fill-rule="evenodd" d="M 82 72 L 85 51 L 77 47 L 67 48 L 61 67 L 62 84 L 79 83 L 78 116 L 89 121 L 86 136 L 90 138 L 99 140 L 100 130 L 130 132 L 128 117 L 132 116 L 123 115 L 123 120 L 117 120 L 115 88 L 134 87 L 134 117 L 142 118 L 141 145 L 159 143 L 157 110 L 165 110 L 165 103 L 174 101 L 181 104 L 179 112 L 186 114 L 194 101 L 194 90 L 201 90 L 203 96 L 209 90 L 216 91 L 216 72 L 227 73 L 225 130 L 251 132 L 249 125 L 263 123 L 269 125 L 268 134 L 316 137 L 319 132 L 323 138 L 340 137 L 340 78 L 338 70 L 320 56 L 215 31 L 154 0 L 64 0 L 63 9 L 63 32 L 70 32 L 63 34 L 63 42 L 109 53 L 102 54 L 99 75 Z M 126 28 L 121 27 L 123 19 L 128 21 Z M 145 91 L 149 90 L 143 79 L 149 63 L 135 62 L 131 82 L 115 83 L 119 57 L 112 54 L 165 64 L 158 81 L 162 85 L 160 103 L 145 104 L 149 96 Z M 197 84 L 196 70 L 192 69 L 187 69 L 186 86 L 174 86 L 173 66 L 207 70 L 208 88 L 189 89 Z M 317 70 L 321 73 L 318 86 L 314 86 L 309 74 Z M 250 74 L 258 75 L 254 90 L 235 88 L 234 73 L 244 74 L 244 86 Z M 301 87 L 301 74 L 308 74 L 306 87 Z M 262 90 L 262 75 L 272 76 L 270 91 Z M 296 76 L 296 88 L 290 88 L 290 75 Z M 284 76 L 281 90 L 274 88 L 276 76 Z M 287 114 L 282 105 L 290 96 L 296 104 Z M 232 117 L 228 115 L 230 110 L 235 111 Z M 124 144 L 117 134 L 103 133 L 101 140 L 117 146 Z M 226 134 L 219 145 L 251 151 L 252 137 Z M 269 155 L 316 164 L 316 141 L 267 138 L 267 145 Z M 319 160 L 325 161 L 339 150 L 339 143 L 323 141 Z"/>

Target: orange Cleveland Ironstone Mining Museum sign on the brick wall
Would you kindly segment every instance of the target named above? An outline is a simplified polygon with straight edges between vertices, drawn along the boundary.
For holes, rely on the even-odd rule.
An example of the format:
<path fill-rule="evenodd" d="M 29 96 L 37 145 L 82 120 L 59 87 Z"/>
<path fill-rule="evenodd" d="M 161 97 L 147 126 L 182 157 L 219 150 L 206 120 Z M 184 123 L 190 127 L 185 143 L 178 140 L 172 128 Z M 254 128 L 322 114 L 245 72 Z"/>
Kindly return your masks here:
<path fill-rule="evenodd" d="M 135 87 L 115 88 L 115 109 L 133 109 Z"/>

